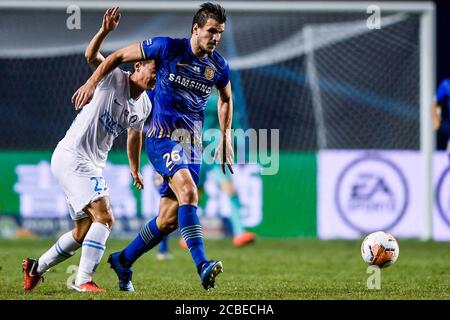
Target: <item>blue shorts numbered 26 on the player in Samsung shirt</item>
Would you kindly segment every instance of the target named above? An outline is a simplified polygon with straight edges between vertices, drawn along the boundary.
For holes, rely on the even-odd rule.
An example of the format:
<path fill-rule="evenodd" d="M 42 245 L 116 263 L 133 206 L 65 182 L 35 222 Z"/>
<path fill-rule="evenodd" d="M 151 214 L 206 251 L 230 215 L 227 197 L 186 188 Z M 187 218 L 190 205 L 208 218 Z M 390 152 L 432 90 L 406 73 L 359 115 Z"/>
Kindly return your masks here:
<path fill-rule="evenodd" d="M 169 187 L 169 178 L 180 169 L 188 169 L 194 183 L 198 185 L 201 152 L 199 154 L 191 145 L 185 144 L 182 147 L 178 141 L 171 140 L 170 138 L 149 137 L 146 138 L 145 144 L 148 159 L 156 172 L 164 179 L 164 182 L 159 188 L 161 197 L 174 195 L 172 189 Z M 185 155 L 185 152 L 190 152 L 190 157 Z"/>

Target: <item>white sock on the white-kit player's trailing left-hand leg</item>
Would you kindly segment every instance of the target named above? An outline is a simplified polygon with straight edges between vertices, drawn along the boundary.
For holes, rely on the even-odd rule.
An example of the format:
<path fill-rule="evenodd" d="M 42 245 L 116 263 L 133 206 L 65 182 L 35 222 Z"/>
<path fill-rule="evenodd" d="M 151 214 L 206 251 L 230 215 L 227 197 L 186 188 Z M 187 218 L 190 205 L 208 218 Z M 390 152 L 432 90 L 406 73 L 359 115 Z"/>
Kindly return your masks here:
<path fill-rule="evenodd" d="M 70 258 L 75 251 L 81 247 L 81 244 L 75 241 L 72 231 L 63 234 L 58 241 L 40 258 L 38 262 L 37 272 L 43 274 L 48 269 L 58 263 Z"/>

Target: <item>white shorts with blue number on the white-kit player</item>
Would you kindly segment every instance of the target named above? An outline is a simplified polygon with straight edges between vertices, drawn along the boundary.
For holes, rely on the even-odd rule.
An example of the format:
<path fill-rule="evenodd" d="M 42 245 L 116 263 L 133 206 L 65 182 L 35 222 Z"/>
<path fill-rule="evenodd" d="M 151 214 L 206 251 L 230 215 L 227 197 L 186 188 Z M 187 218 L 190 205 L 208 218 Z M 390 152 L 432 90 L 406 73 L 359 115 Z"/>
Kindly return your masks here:
<path fill-rule="evenodd" d="M 79 162 L 70 151 L 58 147 L 53 152 L 52 174 L 64 190 L 72 220 L 89 217 L 83 209 L 91 202 L 109 196 L 103 174 L 77 174 L 75 169 L 78 165 Z"/>

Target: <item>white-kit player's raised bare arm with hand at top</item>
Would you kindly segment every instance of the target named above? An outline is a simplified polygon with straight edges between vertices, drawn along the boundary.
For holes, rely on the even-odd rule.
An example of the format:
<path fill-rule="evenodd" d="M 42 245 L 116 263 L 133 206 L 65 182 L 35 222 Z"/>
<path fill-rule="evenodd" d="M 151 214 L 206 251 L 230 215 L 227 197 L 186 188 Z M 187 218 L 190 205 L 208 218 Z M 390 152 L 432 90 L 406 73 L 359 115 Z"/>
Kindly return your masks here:
<path fill-rule="evenodd" d="M 84 52 L 84 57 L 91 66 L 92 70 L 97 69 L 97 67 L 105 60 L 105 57 L 103 57 L 99 50 L 106 36 L 117 28 L 119 25 L 119 20 L 119 7 L 111 7 L 106 10 L 100 30 L 98 30 L 91 42 L 89 42 L 89 45 Z"/>

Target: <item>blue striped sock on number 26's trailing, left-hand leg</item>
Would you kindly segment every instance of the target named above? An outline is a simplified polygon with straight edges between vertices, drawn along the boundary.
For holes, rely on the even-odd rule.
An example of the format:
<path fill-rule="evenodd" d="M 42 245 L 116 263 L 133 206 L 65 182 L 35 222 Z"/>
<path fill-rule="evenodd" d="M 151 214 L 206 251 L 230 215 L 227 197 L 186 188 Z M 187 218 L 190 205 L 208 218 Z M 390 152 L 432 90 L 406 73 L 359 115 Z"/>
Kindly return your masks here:
<path fill-rule="evenodd" d="M 150 220 L 141 228 L 134 240 L 122 250 L 120 263 L 126 267 L 131 265 L 145 252 L 156 246 L 167 234 L 159 231 L 156 218 Z"/>

